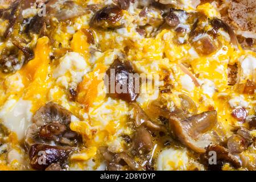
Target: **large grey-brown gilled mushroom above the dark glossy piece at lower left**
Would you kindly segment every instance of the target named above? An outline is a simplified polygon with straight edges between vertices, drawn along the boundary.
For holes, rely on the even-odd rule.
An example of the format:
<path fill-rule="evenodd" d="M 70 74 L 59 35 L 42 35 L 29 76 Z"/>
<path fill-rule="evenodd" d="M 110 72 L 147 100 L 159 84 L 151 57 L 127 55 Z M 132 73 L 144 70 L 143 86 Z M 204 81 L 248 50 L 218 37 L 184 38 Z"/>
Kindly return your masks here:
<path fill-rule="evenodd" d="M 71 113 L 53 102 L 40 107 L 32 117 L 32 122 L 25 137 L 27 147 L 34 143 L 52 142 L 74 147 L 80 140 L 77 133 L 69 129 Z"/>

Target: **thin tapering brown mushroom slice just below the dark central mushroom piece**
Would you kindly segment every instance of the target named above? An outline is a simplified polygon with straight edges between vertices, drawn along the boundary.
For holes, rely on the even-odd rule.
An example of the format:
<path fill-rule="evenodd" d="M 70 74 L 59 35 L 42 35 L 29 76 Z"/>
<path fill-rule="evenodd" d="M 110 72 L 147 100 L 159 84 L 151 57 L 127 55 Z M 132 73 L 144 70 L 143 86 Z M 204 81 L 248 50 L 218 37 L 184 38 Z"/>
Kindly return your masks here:
<path fill-rule="evenodd" d="M 151 131 L 166 131 L 164 126 L 152 122 L 138 104 L 132 102 L 131 107 L 134 109 L 134 119 L 137 127 L 143 125 Z"/>

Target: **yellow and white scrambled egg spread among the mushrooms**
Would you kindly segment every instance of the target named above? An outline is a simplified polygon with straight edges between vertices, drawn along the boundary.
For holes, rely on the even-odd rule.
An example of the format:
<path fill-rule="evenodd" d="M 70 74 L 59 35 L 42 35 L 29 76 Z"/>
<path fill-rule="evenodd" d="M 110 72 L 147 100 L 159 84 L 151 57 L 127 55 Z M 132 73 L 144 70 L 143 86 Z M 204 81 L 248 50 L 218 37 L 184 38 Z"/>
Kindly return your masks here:
<path fill-rule="evenodd" d="M 83 6 L 106 3 L 94 0 L 76 2 Z M 175 6 L 188 12 L 203 13 L 209 18 L 220 18 L 220 13 L 210 3 L 196 8 Z M 82 136 L 84 146 L 68 159 L 70 169 L 105 169 L 106 164 L 97 152 L 102 146 L 113 153 L 126 151 L 126 142 L 121 136 L 133 134 L 129 119 L 134 117 L 134 110 L 126 101 L 108 97 L 102 76 L 122 52 L 126 52 L 127 60 L 137 72 L 146 76 L 159 75 L 160 84 L 156 90 L 159 94 L 162 94 L 160 88 L 164 86 L 164 78 L 170 80 L 171 94 L 166 96 L 170 110 L 181 105 L 179 95 L 185 94 L 195 102 L 198 113 L 217 111 L 219 126 L 226 137 L 233 134 L 234 126 L 248 126 L 247 122 L 237 121 L 232 111 L 243 107 L 247 117 L 255 117 L 255 90 L 253 94 L 241 94 L 236 85 L 229 85 L 228 64 L 237 64 L 239 82 L 244 84 L 255 79 L 255 52 L 243 50 L 240 46 L 235 48 L 230 44 L 229 34 L 222 31 L 218 36 L 220 48 L 201 55 L 191 44 L 175 43 L 176 32 L 173 29 L 163 28 L 152 37 L 139 34 L 135 23 L 143 24 L 144 20 L 139 16 L 141 9 L 131 3 L 129 9 L 123 11 L 125 26 L 107 31 L 93 29 L 98 47 L 88 43 L 85 33 L 93 16 L 93 13 L 88 13 L 68 23 L 58 23 L 52 28 L 51 37 L 35 37 L 34 58 L 14 73 L 1 73 L 0 118 L 1 126 L 7 132 L 5 137 L 0 135 L 4 138 L 0 141 L 0 169 L 30 168 L 22 143 L 27 127 L 32 123 L 32 115 L 49 101 L 72 113 L 70 128 Z M 34 10 L 23 10 L 23 14 L 30 17 Z M 148 16 L 159 18 L 158 13 Z M 0 23 L 5 27 L 5 22 Z M 146 27 L 145 34 L 151 32 L 152 27 Z M 1 42 L 1 51 L 6 44 Z M 184 71 L 181 63 L 189 64 L 185 70 L 192 76 Z M 67 91 L 73 85 L 77 88 L 75 100 L 70 99 Z M 141 87 L 146 88 L 147 85 L 142 84 Z M 136 100 L 143 110 L 154 98 L 151 96 L 155 90 L 147 91 Z M 248 158 L 255 158 L 255 150 L 246 152 Z M 152 167 L 157 170 L 192 169 L 191 164 L 195 163 L 192 161 L 197 159 L 182 144 L 176 148 L 156 142 L 153 154 L 155 163 Z"/>

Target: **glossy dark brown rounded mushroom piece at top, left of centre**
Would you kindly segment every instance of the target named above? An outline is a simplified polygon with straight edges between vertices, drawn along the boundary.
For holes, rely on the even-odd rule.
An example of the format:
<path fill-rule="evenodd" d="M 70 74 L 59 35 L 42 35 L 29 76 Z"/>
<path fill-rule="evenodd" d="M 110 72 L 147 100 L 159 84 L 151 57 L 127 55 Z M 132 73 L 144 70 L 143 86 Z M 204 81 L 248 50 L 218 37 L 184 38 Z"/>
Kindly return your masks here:
<path fill-rule="evenodd" d="M 122 23 L 123 12 L 117 5 L 109 5 L 99 10 L 90 20 L 90 26 L 93 28 L 120 28 Z"/>

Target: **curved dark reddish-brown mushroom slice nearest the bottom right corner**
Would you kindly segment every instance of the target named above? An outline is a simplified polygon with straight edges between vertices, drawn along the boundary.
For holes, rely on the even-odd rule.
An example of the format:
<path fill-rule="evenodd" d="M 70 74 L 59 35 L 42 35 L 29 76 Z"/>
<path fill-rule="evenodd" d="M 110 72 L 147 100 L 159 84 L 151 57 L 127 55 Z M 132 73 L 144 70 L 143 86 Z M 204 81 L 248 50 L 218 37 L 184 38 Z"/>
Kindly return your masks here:
<path fill-rule="evenodd" d="M 216 152 L 217 161 L 228 162 L 236 168 L 241 167 L 241 163 L 238 160 L 238 158 L 236 158 L 236 156 L 230 154 L 230 152 L 227 148 L 222 147 L 220 145 L 208 146 L 207 147 L 207 152 L 206 152 L 207 156 L 210 156 L 209 155 L 210 151 L 215 151 Z"/>

